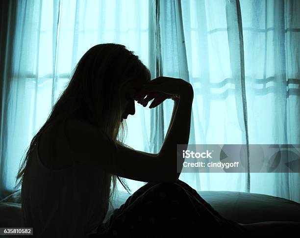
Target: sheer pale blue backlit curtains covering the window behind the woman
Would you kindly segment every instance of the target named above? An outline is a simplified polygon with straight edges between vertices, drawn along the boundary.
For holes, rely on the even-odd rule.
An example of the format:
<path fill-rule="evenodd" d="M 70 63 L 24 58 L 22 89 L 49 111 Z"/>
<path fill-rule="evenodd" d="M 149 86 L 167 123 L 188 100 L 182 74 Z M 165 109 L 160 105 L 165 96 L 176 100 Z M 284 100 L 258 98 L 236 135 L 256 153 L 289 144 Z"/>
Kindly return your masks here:
<path fill-rule="evenodd" d="M 75 64 L 100 43 L 124 44 L 152 79 L 193 85 L 190 144 L 300 144 L 299 1 L 12 0 L 2 11 L 8 25 L 1 24 L 0 38 L 0 197 L 12 191 L 25 149 Z M 157 153 L 172 109 L 171 101 L 154 109 L 136 104 L 126 143 Z M 300 202 L 299 173 L 182 173 L 179 179 L 196 190 Z M 127 183 L 132 192 L 144 184 Z"/>

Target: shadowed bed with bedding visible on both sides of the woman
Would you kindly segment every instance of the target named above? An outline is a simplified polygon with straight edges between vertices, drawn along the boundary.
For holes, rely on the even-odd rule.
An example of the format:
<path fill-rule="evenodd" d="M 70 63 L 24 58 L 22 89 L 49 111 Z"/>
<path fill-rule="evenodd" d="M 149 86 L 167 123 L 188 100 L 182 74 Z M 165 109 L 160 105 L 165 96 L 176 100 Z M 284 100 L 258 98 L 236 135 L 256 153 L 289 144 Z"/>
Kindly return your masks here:
<path fill-rule="evenodd" d="M 289 232 L 300 237 L 300 204 L 288 199 L 264 194 L 233 191 L 198 191 L 200 196 L 227 219 L 242 224 L 270 224 L 288 226 Z M 118 191 L 113 201 L 119 208 L 131 194 Z M 112 211 L 109 210 L 105 222 Z M 22 227 L 21 190 L 0 201 L 0 227 Z M 292 231 L 293 230 L 293 231 Z M 1 238 L 18 236 L 1 236 Z"/>

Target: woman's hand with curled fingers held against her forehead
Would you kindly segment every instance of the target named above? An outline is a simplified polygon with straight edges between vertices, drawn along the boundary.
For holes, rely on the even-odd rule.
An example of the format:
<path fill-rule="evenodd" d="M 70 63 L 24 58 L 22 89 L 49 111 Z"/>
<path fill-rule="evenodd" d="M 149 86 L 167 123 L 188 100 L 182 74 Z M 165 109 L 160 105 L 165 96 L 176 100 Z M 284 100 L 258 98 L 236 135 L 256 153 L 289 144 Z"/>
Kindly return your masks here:
<path fill-rule="evenodd" d="M 149 108 L 153 108 L 168 98 L 178 102 L 180 97 L 185 96 L 194 96 L 193 87 L 190 83 L 183 79 L 158 77 L 151 80 L 149 84 L 144 84 L 143 89 L 136 93 L 135 100 L 139 104 L 147 106 L 154 99 L 149 106 Z"/>

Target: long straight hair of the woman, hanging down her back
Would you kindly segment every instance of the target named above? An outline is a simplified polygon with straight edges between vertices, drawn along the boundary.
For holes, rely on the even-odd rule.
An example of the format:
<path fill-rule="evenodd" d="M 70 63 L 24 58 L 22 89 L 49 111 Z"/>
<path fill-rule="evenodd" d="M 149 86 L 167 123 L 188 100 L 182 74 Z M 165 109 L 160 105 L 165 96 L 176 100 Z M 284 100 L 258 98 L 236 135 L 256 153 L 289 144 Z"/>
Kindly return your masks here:
<path fill-rule="evenodd" d="M 122 122 L 124 108 L 121 108 L 119 90 L 128 80 L 149 81 L 151 77 L 149 69 L 133 53 L 123 45 L 108 43 L 92 47 L 81 57 L 71 74 L 68 86 L 52 107 L 47 121 L 32 138 L 19 168 L 15 188 L 19 188 L 23 182 L 30 154 L 44 128 L 49 123 L 66 119 L 74 113 L 81 112 L 81 116 L 89 118 L 97 129 L 105 132 L 115 148 L 116 144 L 126 146 L 124 144 L 126 124 L 125 120 Z M 111 179 L 112 189 L 110 194 L 107 194 L 105 189 L 102 192 L 104 198 L 108 197 L 109 206 L 112 207 L 112 198 L 117 186 L 116 179 L 127 192 L 130 189 L 123 178 L 109 173 L 106 175 L 103 186 L 110 187 Z"/>

